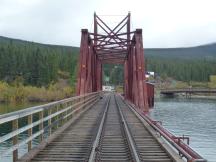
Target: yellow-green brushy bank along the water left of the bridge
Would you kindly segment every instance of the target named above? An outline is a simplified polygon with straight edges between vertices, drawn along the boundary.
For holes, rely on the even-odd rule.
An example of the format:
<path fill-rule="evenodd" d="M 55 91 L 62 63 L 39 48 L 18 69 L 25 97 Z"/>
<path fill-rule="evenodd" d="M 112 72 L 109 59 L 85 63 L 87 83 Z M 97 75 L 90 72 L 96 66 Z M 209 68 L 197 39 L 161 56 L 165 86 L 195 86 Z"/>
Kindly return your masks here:
<path fill-rule="evenodd" d="M 9 85 L 0 82 L 0 102 L 51 102 L 66 97 L 71 97 L 75 89 L 68 84 L 58 82 L 48 87 L 24 86 L 22 84 Z"/>

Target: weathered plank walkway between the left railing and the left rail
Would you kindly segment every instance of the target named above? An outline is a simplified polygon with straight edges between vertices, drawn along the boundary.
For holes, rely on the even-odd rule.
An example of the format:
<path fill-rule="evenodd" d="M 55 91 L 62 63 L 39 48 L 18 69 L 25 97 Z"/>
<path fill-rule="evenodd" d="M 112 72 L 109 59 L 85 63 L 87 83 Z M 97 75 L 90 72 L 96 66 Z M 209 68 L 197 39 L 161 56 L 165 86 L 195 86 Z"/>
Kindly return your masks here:
<path fill-rule="evenodd" d="M 92 142 L 95 138 L 105 107 L 105 100 L 100 100 L 87 110 L 78 120 L 41 150 L 32 162 L 88 161 Z"/>

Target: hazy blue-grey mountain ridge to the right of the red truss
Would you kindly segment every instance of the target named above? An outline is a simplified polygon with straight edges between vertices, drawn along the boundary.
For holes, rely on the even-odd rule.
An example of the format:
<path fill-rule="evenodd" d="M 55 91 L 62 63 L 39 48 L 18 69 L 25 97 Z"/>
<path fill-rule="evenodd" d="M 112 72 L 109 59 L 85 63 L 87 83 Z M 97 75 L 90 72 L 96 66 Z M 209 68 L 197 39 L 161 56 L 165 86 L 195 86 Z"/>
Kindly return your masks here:
<path fill-rule="evenodd" d="M 216 43 L 206 44 L 188 48 L 146 48 L 144 49 L 146 57 L 169 57 L 169 58 L 216 58 Z"/>

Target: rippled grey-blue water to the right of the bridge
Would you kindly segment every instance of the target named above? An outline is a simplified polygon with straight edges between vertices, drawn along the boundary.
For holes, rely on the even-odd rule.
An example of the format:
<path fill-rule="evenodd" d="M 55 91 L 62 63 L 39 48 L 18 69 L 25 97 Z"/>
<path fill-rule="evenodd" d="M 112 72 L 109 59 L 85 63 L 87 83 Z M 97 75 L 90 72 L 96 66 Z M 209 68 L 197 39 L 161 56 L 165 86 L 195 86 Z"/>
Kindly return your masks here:
<path fill-rule="evenodd" d="M 190 136 L 190 146 L 209 162 L 216 162 L 216 101 L 159 99 L 150 115 L 173 134 Z"/>

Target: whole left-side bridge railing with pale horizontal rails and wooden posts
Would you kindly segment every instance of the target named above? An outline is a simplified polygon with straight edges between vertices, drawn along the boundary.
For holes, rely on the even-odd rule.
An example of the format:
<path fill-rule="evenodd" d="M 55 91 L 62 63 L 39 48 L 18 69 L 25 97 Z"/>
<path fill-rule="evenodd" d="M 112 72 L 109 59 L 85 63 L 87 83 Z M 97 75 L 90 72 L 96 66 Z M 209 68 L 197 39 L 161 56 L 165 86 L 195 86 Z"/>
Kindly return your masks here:
<path fill-rule="evenodd" d="M 93 92 L 0 115 L 0 126 L 8 123 L 12 125 L 11 131 L 0 136 L 0 144 L 12 140 L 12 146 L 0 153 L 0 159 L 13 152 L 13 161 L 17 161 L 20 147 L 27 144 L 28 151 L 30 151 L 33 139 L 38 138 L 40 143 L 44 138 L 51 136 L 57 128 L 64 125 L 75 114 L 92 106 L 100 98 L 100 93 Z M 19 126 L 21 120 L 27 120 L 27 124 Z M 36 131 L 35 128 L 37 128 Z M 18 137 L 24 132 L 28 136 L 20 141 Z M 5 132 L 1 132 L 3 133 Z"/>

